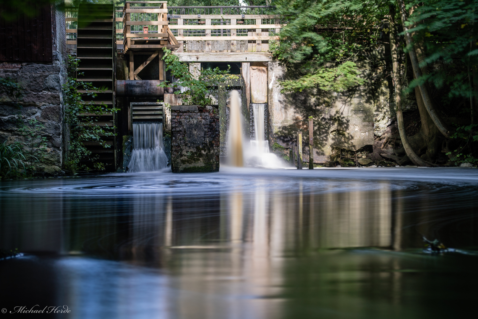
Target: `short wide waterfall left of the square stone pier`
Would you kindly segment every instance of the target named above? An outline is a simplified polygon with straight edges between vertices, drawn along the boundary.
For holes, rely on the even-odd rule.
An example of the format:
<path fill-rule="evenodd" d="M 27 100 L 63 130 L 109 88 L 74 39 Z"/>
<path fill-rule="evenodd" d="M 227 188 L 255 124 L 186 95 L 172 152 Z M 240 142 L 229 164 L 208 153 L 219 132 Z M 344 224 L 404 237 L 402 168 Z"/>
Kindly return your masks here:
<path fill-rule="evenodd" d="M 128 164 L 130 172 L 164 169 L 168 158 L 163 150 L 163 123 L 133 123 L 133 152 Z"/>

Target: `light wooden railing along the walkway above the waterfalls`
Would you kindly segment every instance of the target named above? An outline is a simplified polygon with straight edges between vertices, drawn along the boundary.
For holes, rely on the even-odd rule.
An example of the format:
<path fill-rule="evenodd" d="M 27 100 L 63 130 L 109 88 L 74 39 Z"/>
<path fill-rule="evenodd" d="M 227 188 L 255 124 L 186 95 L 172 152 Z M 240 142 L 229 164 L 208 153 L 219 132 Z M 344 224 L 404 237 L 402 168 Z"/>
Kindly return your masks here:
<path fill-rule="evenodd" d="M 116 43 L 123 53 L 137 45 L 131 40 L 145 39 L 159 40 L 158 44 L 172 49 L 179 46 L 178 52 L 267 52 L 287 23 L 274 10 L 272 6 L 168 8 L 167 1 L 127 1 L 115 12 Z M 71 8 L 66 11 L 68 44 L 76 44 L 76 29 L 69 28 L 74 21 L 77 9 Z"/>

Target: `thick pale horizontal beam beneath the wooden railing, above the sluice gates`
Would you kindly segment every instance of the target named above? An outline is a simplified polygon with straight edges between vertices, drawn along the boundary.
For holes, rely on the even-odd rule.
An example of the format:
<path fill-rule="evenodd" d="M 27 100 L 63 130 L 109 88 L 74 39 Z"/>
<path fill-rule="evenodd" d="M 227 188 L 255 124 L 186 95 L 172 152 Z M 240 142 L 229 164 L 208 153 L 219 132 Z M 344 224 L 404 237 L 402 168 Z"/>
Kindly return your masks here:
<path fill-rule="evenodd" d="M 181 62 L 267 62 L 272 54 L 267 52 L 174 52 Z"/>

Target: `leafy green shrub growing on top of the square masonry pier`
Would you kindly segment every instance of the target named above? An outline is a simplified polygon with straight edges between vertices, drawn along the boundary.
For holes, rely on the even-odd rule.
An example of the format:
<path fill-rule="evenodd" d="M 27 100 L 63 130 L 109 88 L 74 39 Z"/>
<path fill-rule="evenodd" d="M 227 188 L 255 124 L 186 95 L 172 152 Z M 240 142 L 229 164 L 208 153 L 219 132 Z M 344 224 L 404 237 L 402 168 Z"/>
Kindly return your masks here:
<path fill-rule="evenodd" d="M 221 71 L 219 68 L 203 69 L 196 73 L 199 74 L 197 79 L 193 77 L 189 71 L 189 65 L 179 61 L 179 58 L 172 54 L 170 50 L 163 48 L 163 60 L 166 65 L 166 71 L 170 71 L 171 75 L 177 79 L 177 82 L 168 83 L 164 81 L 159 86 L 187 87 L 183 93 L 176 91 L 175 94 L 181 95 L 183 104 L 206 106 L 212 104 L 212 93 L 215 87 L 225 85 L 228 79 L 239 78 L 237 75 L 228 74 L 228 70 Z"/>

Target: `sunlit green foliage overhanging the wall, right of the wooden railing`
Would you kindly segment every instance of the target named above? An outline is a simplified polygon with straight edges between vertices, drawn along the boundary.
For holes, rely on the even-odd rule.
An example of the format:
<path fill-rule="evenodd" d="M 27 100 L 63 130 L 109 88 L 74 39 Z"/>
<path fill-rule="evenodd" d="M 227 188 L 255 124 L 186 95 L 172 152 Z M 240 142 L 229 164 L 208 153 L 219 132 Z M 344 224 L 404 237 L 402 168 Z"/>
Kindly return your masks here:
<path fill-rule="evenodd" d="M 380 0 L 279 1 L 277 13 L 289 21 L 279 34 L 283 40 L 271 43 L 270 51 L 294 68 L 282 91 L 343 91 L 362 84 L 355 61 L 379 43 L 385 10 L 388 4 Z"/>

